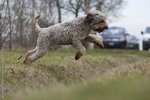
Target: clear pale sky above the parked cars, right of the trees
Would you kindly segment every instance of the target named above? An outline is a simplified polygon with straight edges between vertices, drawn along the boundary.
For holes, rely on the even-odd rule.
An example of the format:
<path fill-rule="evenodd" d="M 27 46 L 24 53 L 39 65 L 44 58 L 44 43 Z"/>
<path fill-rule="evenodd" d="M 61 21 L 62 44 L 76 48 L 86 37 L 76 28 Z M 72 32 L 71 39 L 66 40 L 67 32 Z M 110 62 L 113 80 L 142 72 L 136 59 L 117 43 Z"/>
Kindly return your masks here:
<path fill-rule="evenodd" d="M 123 17 L 113 22 L 110 26 L 126 28 L 129 34 L 140 36 L 146 26 L 150 26 L 150 0 L 126 0 L 121 10 Z"/>

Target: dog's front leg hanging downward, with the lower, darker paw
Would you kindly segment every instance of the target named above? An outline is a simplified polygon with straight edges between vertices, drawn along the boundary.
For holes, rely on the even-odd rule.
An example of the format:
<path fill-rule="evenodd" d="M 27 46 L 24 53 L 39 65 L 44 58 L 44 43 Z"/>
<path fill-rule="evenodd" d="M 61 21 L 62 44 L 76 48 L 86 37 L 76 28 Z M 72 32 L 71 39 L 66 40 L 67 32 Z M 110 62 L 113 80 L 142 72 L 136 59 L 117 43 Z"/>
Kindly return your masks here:
<path fill-rule="evenodd" d="M 77 53 L 75 56 L 75 60 L 79 60 L 79 58 L 85 54 L 86 50 L 84 48 L 84 46 L 82 45 L 80 40 L 75 40 L 73 41 L 73 45 L 75 46 L 75 48 L 77 49 Z"/>

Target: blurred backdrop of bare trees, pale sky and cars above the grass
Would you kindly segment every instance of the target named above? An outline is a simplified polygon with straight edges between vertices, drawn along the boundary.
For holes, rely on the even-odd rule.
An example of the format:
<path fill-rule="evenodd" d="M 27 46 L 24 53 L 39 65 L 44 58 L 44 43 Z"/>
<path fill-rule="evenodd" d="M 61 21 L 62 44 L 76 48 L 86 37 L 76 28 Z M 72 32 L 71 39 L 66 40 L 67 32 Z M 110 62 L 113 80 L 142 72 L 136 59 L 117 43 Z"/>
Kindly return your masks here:
<path fill-rule="evenodd" d="M 38 14 L 42 14 L 40 26 L 47 27 L 100 10 L 107 16 L 110 29 L 96 34 L 103 39 L 106 48 L 148 50 L 149 4 L 149 0 L 1 0 L 0 49 L 33 48 L 38 34 L 32 22 Z M 90 43 L 85 46 L 97 48 Z"/>

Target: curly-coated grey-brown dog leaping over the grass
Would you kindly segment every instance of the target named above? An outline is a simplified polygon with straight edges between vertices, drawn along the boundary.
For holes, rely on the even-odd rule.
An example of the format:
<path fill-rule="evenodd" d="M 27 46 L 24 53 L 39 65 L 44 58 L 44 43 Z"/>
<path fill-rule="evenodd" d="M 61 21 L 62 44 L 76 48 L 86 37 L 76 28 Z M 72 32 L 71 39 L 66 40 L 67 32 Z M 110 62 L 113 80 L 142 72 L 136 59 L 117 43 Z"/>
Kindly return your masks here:
<path fill-rule="evenodd" d="M 91 31 L 102 32 L 108 28 L 106 17 L 100 11 L 89 12 L 84 17 L 56 24 L 47 28 L 38 25 L 40 15 L 35 18 L 35 29 L 38 31 L 37 45 L 35 49 L 27 52 L 25 64 L 31 64 L 43 57 L 49 47 L 55 45 L 71 44 L 77 49 L 75 59 L 78 60 L 84 53 L 83 41 L 92 42 L 103 47 L 102 41 L 90 35 Z"/>

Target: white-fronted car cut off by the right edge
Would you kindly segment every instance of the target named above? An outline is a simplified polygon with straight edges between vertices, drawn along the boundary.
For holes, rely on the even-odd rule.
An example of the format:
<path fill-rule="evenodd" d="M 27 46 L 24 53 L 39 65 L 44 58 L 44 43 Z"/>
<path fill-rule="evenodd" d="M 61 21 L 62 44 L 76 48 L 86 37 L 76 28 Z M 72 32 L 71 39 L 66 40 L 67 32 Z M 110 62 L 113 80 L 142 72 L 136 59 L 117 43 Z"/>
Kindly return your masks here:
<path fill-rule="evenodd" d="M 141 32 L 143 34 L 143 49 L 148 50 L 150 49 L 150 27 L 146 27 L 144 32 Z"/>

